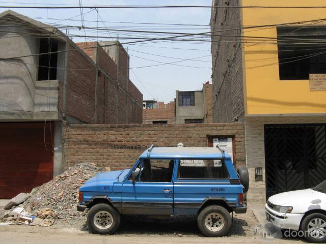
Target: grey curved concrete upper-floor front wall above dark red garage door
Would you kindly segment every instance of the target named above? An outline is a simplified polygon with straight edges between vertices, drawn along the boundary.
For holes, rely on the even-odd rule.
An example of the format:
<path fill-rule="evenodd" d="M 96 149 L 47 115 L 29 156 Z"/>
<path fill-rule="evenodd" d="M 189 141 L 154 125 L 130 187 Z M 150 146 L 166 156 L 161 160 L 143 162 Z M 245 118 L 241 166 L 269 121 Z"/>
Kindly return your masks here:
<path fill-rule="evenodd" d="M 13 33 L 33 33 L 31 28 L 5 25 L 8 25 L 8 22 L 0 22 L 0 30 L 3 32 L 0 34 L 0 46 L 3 47 L 1 57 L 39 52 L 37 38 Z M 37 65 L 38 56 L 12 58 L 0 62 L 0 120 L 44 119 L 49 111 L 53 118 L 58 118 L 58 93 L 53 90 L 57 89 L 58 81 L 50 81 L 48 85 L 37 81 Z"/>

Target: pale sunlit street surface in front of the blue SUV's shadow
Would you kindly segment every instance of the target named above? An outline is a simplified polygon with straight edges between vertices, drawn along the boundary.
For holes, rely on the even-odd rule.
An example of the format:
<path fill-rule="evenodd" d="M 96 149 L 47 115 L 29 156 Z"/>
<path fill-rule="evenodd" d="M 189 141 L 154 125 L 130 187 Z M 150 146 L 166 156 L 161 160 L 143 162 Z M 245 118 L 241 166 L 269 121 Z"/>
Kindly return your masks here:
<path fill-rule="evenodd" d="M 145 231 L 144 231 L 145 232 Z M 256 236 L 231 236 L 221 238 L 202 237 L 200 235 L 167 235 L 161 232 L 154 235 L 146 233 L 139 234 L 116 234 L 102 236 L 89 234 L 87 231 L 76 229 L 56 229 L 53 227 L 31 227 L 31 226 L 2 226 L 0 227 L 0 243 L 304 243 L 303 239 L 263 239 L 261 235 Z"/>

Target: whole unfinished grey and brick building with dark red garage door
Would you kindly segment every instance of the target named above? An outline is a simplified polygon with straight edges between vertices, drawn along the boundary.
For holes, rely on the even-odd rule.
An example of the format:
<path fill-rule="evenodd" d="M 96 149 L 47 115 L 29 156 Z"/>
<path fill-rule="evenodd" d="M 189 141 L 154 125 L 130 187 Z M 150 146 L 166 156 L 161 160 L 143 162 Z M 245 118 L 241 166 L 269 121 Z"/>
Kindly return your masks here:
<path fill-rule="evenodd" d="M 0 14 L 0 29 L 0 198 L 61 173 L 66 124 L 142 123 L 121 45 L 117 62 L 96 42 L 76 44 L 13 11 Z"/>

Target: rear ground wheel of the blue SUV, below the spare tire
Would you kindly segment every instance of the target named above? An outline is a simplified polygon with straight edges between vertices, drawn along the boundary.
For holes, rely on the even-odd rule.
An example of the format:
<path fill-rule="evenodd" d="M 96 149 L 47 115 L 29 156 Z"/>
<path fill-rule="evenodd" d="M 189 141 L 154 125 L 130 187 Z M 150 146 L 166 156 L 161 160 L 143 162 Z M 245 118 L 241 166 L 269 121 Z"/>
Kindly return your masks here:
<path fill-rule="evenodd" d="M 198 228 L 208 237 L 224 236 L 231 228 L 229 211 L 219 205 L 210 205 L 202 209 L 198 216 Z"/>

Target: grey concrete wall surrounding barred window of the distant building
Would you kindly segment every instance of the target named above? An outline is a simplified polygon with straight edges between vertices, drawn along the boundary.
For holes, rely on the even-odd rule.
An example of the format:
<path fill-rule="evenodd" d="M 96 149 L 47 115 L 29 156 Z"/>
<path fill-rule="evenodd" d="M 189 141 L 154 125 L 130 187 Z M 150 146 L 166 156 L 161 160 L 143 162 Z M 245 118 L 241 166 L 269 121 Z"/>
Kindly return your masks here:
<path fill-rule="evenodd" d="M 184 124 L 187 118 L 204 118 L 203 91 L 195 91 L 195 106 L 179 106 L 179 91 L 176 91 L 175 123 Z"/>

